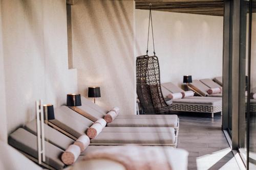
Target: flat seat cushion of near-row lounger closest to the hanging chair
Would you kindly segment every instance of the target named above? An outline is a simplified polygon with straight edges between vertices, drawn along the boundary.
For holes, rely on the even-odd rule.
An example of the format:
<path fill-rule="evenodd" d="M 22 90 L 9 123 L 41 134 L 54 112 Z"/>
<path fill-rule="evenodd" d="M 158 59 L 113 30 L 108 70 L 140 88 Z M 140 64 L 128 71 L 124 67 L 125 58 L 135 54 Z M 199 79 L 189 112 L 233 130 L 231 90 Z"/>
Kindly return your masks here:
<path fill-rule="evenodd" d="M 108 127 L 177 127 L 176 119 L 115 119 Z"/>

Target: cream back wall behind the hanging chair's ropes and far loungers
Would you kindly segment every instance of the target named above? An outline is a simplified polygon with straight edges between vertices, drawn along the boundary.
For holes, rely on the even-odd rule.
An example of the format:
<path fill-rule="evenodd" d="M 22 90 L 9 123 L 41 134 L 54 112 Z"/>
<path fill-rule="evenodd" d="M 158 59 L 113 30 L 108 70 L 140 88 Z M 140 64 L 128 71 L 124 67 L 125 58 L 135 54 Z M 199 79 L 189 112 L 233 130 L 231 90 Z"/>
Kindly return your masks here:
<path fill-rule="evenodd" d="M 146 54 L 148 10 L 135 10 L 136 56 Z M 152 11 L 161 83 L 222 76 L 223 17 Z M 151 35 L 151 32 L 150 32 Z M 153 55 L 152 36 L 149 52 Z"/>

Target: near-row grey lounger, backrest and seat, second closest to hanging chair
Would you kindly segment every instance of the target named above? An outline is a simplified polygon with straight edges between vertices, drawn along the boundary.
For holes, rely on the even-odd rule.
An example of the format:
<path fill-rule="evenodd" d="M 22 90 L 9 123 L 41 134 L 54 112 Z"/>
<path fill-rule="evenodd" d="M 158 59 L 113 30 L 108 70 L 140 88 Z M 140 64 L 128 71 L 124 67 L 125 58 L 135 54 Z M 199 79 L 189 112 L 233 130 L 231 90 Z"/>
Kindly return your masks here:
<path fill-rule="evenodd" d="M 67 112 L 66 112 L 67 111 Z M 86 133 L 86 130 L 93 122 L 86 117 L 77 114 L 66 106 L 55 109 L 55 119 L 49 120 L 49 125 L 68 135 L 72 139 Z M 110 129 L 111 128 L 111 129 Z M 173 128 L 144 127 L 142 132 L 139 128 L 126 128 L 126 132 L 120 132 L 121 127 L 105 127 L 102 132 L 91 140 L 95 145 L 122 145 L 122 144 L 142 144 L 142 145 L 169 145 L 176 147 L 178 132 Z M 105 132 L 104 129 L 108 129 Z M 115 132 L 115 129 L 119 132 Z M 159 132 L 160 131 L 160 132 Z"/>

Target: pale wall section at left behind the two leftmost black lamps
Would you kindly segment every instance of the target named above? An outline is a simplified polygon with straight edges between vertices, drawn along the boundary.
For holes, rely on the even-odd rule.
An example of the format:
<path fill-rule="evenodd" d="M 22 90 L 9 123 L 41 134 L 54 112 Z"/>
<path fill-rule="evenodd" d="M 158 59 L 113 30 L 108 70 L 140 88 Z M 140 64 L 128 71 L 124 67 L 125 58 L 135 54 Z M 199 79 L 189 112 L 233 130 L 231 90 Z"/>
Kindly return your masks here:
<path fill-rule="evenodd" d="M 77 91 L 68 70 L 65 0 L 2 0 L 8 132 L 35 118 L 35 101 L 55 107 Z"/>

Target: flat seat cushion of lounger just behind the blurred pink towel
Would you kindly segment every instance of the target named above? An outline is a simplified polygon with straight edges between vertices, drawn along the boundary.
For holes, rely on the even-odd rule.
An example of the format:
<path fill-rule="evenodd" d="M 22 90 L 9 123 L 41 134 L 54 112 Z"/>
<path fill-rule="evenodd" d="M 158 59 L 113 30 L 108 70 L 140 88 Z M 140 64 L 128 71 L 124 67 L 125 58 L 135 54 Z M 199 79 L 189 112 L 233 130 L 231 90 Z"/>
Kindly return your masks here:
<path fill-rule="evenodd" d="M 91 139 L 91 144 L 100 145 L 175 145 L 175 133 L 100 133 L 96 138 Z"/>

